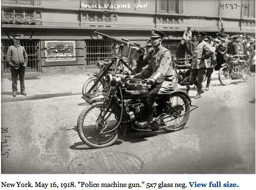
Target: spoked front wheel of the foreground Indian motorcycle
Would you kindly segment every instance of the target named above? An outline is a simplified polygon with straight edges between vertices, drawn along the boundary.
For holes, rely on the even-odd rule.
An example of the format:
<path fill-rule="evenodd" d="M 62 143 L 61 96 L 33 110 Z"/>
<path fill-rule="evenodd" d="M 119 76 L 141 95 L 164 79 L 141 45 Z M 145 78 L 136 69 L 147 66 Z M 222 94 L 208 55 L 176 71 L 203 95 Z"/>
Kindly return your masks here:
<path fill-rule="evenodd" d="M 81 140 L 92 148 L 102 148 L 112 145 L 118 138 L 118 121 L 111 108 L 103 102 L 96 102 L 84 108 L 78 118 L 78 134 Z M 106 113 L 102 122 L 103 114 Z M 112 131 L 110 131 L 112 130 Z M 102 133 L 106 132 L 106 133 Z M 109 131 L 109 132 L 108 132 Z"/>

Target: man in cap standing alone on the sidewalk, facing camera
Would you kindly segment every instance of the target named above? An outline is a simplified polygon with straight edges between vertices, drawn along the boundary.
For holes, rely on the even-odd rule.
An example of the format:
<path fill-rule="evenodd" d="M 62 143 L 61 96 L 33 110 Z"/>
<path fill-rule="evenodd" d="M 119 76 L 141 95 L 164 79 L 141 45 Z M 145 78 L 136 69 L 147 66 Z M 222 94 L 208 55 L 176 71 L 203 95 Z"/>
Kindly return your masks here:
<path fill-rule="evenodd" d="M 25 69 L 27 66 L 28 58 L 27 53 L 23 46 L 20 46 L 20 35 L 14 34 L 13 36 L 14 45 L 9 46 L 6 53 L 6 61 L 10 65 L 10 72 L 12 78 L 12 96 L 17 95 L 17 80 L 19 76 L 20 81 L 20 92 L 26 96 L 25 92 Z"/>

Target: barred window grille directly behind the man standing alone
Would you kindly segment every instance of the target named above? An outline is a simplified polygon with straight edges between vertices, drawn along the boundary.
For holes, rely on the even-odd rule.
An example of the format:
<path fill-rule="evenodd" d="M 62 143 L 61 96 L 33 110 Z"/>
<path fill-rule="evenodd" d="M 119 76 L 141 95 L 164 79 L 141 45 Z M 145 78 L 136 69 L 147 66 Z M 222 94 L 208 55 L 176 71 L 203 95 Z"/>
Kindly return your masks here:
<path fill-rule="evenodd" d="M 2 53 L 3 53 L 3 72 L 10 73 L 10 66 L 6 62 L 6 53 L 8 47 L 13 45 L 11 41 L 2 41 Z M 22 41 L 20 45 L 26 50 L 28 56 L 28 63 L 26 67 L 26 72 L 41 72 L 41 64 L 39 61 L 39 41 Z"/>

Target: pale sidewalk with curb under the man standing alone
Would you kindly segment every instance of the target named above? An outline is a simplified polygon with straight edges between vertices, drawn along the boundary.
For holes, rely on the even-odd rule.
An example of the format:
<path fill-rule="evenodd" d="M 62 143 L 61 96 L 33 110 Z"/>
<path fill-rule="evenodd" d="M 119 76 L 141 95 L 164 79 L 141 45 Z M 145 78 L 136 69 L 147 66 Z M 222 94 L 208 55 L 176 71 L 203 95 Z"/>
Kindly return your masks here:
<path fill-rule="evenodd" d="M 12 96 L 11 83 L 8 78 L 1 77 L 1 102 L 13 102 L 24 100 L 37 100 L 58 96 L 78 95 L 82 96 L 82 88 L 89 78 L 84 74 L 61 74 L 61 75 L 41 75 L 37 77 L 25 78 L 26 96 L 20 94 L 18 80 L 18 93 Z"/>

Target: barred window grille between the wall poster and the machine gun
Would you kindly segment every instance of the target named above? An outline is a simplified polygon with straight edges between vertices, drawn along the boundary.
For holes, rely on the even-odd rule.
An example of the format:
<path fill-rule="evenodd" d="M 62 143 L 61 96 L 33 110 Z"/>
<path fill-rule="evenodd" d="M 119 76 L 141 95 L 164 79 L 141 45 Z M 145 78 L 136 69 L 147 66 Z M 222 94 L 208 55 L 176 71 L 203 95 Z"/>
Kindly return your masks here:
<path fill-rule="evenodd" d="M 102 40 L 85 41 L 85 65 L 87 68 L 96 68 L 96 61 L 103 61 L 113 57 L 112 42 Z"/>

